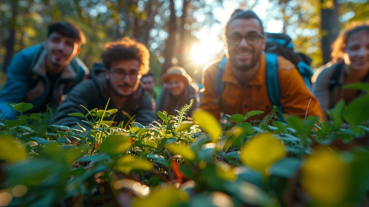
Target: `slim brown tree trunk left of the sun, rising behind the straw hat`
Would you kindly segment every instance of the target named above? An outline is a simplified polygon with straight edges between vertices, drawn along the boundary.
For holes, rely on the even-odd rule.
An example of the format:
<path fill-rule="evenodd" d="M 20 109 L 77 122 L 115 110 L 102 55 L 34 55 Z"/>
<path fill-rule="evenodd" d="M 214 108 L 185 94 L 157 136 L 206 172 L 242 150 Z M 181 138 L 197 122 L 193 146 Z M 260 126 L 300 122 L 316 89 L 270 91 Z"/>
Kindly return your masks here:
<path fill-rule="evenodd" d="M 170 20 L 169 20 L 169 37 L 165 42 L 165 49 L 163 51 L 163 56 L 165 62 L 163 63 L 162 74 L 166 72 L 166 70 L 172 66 L 172 57 L 174 52 L 174 47 L 176 43 L 176 31 L 177 31 L 177 23 L 176 23 L 176 13 L 174 9 L 174 0 L 170 0 Z"/>

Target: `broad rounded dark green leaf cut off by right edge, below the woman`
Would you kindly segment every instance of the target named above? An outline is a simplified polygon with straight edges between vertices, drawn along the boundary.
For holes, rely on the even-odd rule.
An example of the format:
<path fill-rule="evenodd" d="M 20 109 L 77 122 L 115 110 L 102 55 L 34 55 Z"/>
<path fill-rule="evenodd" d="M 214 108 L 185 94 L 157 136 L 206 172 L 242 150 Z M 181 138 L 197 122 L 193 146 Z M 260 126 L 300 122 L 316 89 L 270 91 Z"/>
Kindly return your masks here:
<path fill-rule="evenodd" d="M 344 110 L 344 119 L 352 125 L 360 125 L 369 118 L 369 95 L 360 96 Z"/>

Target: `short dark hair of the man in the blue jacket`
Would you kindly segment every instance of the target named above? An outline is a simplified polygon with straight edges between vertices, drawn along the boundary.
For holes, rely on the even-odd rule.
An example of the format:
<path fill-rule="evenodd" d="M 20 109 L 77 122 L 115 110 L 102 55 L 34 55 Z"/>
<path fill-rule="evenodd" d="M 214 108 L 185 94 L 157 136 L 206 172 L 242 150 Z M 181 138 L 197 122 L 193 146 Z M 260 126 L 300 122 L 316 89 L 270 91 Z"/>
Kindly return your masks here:
<path fill-rule="evenodd" d="M 73 38 L 79 45 L 86 43 L 86 37 L 85 34 L 83 34 L 83 31 L 72 23 L 59 21 L 49 24 L 47 37 L 49 37 L 49 35 L 53 32 L 61 34 L 65 37 Z"/>

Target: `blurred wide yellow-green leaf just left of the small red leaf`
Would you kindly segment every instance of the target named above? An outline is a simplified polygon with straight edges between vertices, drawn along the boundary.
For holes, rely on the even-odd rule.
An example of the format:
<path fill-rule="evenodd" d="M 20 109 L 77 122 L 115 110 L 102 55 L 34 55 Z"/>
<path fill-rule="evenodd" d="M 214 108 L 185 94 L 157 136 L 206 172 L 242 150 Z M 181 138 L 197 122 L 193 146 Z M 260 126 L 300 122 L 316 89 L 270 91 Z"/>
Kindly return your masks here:
<path fill-rule="evenodd" d="M 131 155 L 124 155 L 117 160 L 117 169 L 124 174 L 129 174 L 132 170 L 149 171 L 153 167 L 151 162 Z"/>

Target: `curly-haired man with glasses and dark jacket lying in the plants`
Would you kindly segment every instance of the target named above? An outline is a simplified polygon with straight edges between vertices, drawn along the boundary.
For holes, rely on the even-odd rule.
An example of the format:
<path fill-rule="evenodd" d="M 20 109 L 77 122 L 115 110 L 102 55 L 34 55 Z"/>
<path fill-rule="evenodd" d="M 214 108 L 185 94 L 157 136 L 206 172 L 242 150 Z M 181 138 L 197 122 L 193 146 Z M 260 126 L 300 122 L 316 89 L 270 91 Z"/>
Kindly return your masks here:
<path fill-rule="evenodd" d="M 72 127 L 79 123 L 90 129 L 90 126 L 81 122 L 80 117 L 68 114 L 86 114 L 85 108 L 89 111 L 95 108 L 105 109 L 109 98 L 107 110 L 118 109 L 118 112 L 104 120 L 112 120 L 117 125 L 123 121 L 123 126 L 133 116 L 142 125 L 155 121 L 154 100 L 140 85 L 142 74 L 149 70 L 149 51 L 145 45 L 125 37 L 121 41 L 107 43 L 101 59 L 104 70 L 93 69 L 92 79 L 77 85 L 68 94 L 56 109 L 56 124 Z"/>

